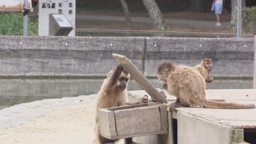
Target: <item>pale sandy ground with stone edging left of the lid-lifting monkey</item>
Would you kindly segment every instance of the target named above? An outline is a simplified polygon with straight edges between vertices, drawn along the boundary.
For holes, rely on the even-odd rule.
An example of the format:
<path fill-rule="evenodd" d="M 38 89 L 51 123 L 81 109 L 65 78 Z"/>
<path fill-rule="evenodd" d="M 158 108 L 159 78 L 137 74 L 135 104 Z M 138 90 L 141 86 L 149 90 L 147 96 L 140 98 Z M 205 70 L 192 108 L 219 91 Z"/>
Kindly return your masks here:
<path fill-rule="evenodd" d="M 91 144 L 94 96 L 49 99 L 0 110 L 1 144 Z"/>

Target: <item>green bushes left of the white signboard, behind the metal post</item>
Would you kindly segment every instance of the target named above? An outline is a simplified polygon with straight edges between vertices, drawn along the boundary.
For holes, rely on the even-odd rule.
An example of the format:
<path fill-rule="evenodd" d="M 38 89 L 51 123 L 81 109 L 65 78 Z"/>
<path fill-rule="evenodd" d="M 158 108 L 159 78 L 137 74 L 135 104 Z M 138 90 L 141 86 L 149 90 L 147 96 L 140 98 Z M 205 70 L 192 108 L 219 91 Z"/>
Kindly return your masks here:
<path fill-rule="evenodd" d="M 0 35 L 23 35 L 23 14 L 1 13 Z M 28 19 L 28 35 L 38 35 L 38 20 Z"/>

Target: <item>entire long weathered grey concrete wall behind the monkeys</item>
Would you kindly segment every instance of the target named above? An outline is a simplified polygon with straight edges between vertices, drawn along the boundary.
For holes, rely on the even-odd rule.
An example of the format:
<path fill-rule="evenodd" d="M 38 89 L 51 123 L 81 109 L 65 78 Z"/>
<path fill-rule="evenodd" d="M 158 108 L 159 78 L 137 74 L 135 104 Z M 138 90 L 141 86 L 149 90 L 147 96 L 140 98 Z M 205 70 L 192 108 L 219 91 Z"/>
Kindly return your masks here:
<path fill-rule="evenodd" d="M 160 63 L 211 58 L 215 77 L 253 77 L 253 38 L 0 36 L 0 77 L 105 76 L 128 57 L 145 76 Z"/>

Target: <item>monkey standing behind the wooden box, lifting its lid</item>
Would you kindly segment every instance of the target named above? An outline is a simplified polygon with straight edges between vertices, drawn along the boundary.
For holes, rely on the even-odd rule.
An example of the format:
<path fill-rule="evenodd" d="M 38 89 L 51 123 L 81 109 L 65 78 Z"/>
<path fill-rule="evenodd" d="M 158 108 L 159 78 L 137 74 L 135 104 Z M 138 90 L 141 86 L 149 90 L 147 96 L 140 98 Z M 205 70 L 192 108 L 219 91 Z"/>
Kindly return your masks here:
<path fill-rule="evenodd" d="M 117 107 L 121 105 L 141 104 L 147 103 L 148 97 L 144 96 L 141 101 L 136 103 L 128 103 L 127 83 L 130 79 L 130 74 L 119 64 L 117 67 L 112 69 L 107 78 L 104 79 L 100 91 L 96 97 L 96 115 L 95 115 L 95 137 L 94 144 L 115 144 L 116 140 L 110 140 L 104 138 L 100 134 L 100 123 L 99 123 L 99 109 Z M 125 144 L 138 144 L 133 142 L 132 138 L 126 138 Z"/>

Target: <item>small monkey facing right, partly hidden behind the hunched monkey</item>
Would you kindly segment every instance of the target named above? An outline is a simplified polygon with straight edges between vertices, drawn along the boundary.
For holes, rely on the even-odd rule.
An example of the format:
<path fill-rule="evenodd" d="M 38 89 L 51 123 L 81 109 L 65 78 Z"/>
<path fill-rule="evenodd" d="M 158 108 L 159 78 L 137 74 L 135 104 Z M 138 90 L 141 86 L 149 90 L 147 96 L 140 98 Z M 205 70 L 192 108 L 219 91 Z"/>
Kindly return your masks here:
<path fill-rule="evenodd" d="M 203 76 L 206 83 L 213 82 L 213 77 L 209 77 L 212 68 L 212 59 L 208 58 L 203 59 L 200 64 L 193 67 L 193 69 L 197 70 Z"/>

